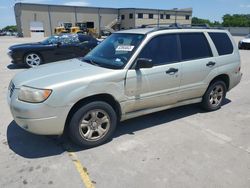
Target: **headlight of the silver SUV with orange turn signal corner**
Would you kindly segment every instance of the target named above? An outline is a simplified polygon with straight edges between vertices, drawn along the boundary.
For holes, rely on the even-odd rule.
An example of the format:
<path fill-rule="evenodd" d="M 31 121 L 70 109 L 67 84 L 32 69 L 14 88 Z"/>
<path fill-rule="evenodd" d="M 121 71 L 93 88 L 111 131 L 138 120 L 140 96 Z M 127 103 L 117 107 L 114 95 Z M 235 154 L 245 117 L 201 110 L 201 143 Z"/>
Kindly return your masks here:
<path fill-rule="evenodd" d="M 41 103 L 45 101 L 52 93 L 50 89 L 37 89 L 22 86 L 18 93 L 18 99 L 24 102 Z"/>

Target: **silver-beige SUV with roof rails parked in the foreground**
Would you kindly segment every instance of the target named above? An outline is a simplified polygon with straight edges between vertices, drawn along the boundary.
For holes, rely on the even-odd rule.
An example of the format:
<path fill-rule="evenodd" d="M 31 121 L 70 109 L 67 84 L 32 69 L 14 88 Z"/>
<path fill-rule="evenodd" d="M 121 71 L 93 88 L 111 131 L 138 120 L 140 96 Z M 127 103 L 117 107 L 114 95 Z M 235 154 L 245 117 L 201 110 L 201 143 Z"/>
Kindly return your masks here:
<path fill-rule="evenodd" d="M 110 139 L 119 121 L 193 103 L 218 110 L 240 82 L 240 70 L 228 31 L 124 30 L 82 59 L 17 74 L 8 103 L 23 129 L 67 132 L 77 144 L 93 147 Z"/>

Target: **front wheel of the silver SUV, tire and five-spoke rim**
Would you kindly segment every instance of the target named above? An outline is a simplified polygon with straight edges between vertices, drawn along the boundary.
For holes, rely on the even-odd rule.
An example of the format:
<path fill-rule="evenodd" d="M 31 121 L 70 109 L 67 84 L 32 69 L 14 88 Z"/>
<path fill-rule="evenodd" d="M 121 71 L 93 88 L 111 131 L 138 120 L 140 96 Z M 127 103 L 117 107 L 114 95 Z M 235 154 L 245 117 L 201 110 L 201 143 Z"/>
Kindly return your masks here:
<path fill-rule="evenodd" d="M 73 114 L 69 135 L 71 140 L 81 147 L 95 147 L 111 138 L 116 125 L 116 112 L 108 103 L 91 102 Z"/>

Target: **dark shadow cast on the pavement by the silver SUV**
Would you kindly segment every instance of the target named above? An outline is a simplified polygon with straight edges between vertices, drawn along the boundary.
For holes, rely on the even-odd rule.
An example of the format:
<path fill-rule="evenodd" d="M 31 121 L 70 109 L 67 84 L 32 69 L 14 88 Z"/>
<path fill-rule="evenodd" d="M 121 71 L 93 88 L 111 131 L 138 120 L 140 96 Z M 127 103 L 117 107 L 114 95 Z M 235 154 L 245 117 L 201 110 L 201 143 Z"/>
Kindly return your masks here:
<path fill-rule="evenodd" d="M 230 102 L 231 100 L 226 99 L 223 105 Z M 207 112 L 199 108 L 197 104 L 194 104 L 130 119 L 117 126 L 117 130 L 113 138 L 117 138 L 125 134 L 133 135 L 136 131 L 144 130 L 149 127 L 166 126 L 162 125 L 166 123 L 171 126 L 172 121 L 199 113 Z M 65 135 L 61 137 L 34 135 L 20 128 L 14 121 L 12 121 L 8 126 L 7 140 L 10 149 L 17 155 L 25 158 L 48 157 L 60 155 L 65 151 L 76 152 L 87 149 L 76 146 L 70 141 L 68 136 Z"/>

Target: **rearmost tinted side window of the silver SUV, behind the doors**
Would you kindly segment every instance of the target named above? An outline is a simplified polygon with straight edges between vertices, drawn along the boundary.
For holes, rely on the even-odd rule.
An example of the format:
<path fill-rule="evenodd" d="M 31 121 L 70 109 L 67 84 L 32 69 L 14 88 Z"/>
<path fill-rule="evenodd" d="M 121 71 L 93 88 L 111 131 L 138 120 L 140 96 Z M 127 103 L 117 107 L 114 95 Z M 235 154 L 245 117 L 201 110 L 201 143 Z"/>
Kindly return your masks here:
<path fill-rule="evenodd" d="M 219 55 L 233 53 L 233 45 L 226 33 L 208 33 L 213 40 Z"/>

